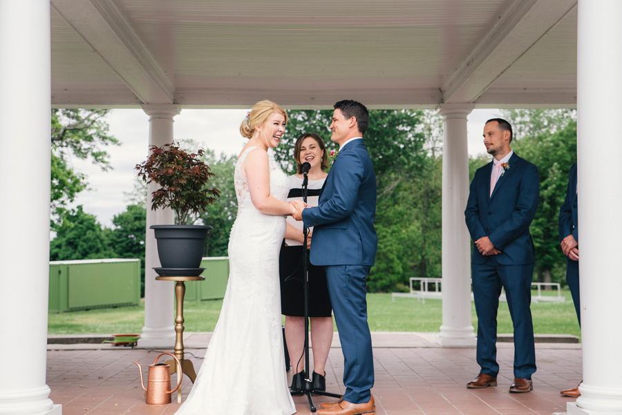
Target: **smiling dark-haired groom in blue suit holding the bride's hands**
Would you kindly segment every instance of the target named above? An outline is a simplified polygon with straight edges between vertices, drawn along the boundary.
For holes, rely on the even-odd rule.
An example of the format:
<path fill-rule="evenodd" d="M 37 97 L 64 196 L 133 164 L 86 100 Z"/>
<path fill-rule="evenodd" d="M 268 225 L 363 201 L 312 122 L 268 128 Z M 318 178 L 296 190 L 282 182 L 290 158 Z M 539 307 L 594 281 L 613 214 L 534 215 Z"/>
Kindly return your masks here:
<path fill-rule="evenodd" d="M 356 101 L 334 104 L 330 139 L 337 157 L 319 196 L 319 205 L 296 205 L 294 219 L 313 228 L 311 263 L 326 269 L 328 291 L 343 351 L 346 393 L 323 403 L 319 415 L 375 414 L 370 389 L 374 360 L 367 324 L 366 278 L 374 264 L 378 238 L 376 176 L 363 144 L 369 123 L 367 108 Z"/>

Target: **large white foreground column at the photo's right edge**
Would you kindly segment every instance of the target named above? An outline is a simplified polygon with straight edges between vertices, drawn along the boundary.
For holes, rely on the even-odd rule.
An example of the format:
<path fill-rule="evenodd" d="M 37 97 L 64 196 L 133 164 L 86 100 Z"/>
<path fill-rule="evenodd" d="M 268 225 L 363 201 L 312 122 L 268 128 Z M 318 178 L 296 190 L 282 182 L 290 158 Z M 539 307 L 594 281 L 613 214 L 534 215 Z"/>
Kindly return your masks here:
<path fill-rule="evenodd" d="M 569 414 L 622 414 L 622 1 L 579 0 L 578 191 L 581 243 L 581 397 Z"/>

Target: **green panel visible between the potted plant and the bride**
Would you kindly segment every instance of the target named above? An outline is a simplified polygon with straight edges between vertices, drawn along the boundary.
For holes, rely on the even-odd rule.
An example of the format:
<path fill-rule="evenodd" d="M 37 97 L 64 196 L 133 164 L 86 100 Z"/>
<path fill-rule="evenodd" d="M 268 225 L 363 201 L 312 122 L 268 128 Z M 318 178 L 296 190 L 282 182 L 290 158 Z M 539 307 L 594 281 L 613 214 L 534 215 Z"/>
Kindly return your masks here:
<path fill-rule="evenodd" d="M 225 298 L 229 280 L 229 257 L 205 257 L 201 260 L 205 281 L 186 282 L 186 301 L 220 300 Z"/>

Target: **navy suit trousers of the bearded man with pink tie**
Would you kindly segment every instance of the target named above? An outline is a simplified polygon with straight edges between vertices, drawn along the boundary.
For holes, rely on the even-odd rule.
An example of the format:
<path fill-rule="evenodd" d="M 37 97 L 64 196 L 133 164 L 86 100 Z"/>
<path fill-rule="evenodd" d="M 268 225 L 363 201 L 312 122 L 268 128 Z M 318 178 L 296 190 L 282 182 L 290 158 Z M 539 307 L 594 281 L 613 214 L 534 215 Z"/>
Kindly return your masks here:
<path fill-rule="evenodd" d="M 494 256 L 472 264 L 473 297 L 478 315 L 477 360 L 482 373 L 496 377 L 497 312 L 501 287 L 514 327 L 514 377 L 531 379 L 536 371 L 534 323 L 531 320 L 531 277 L 535 264 L 501 265 Z"/>

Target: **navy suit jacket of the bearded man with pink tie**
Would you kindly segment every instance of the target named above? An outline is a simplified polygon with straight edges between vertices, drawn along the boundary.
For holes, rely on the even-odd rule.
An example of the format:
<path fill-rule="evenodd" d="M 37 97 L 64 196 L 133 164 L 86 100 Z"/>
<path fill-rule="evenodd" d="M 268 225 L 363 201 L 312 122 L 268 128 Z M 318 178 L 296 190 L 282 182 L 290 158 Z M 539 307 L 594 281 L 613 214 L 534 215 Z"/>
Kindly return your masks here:
<path fill-rule="evenodd" d="M 471 182 L 466 202 L 466 227 L 473 242 L 488 236 L 502 265 L 522 265 L 535 262 L 534 242 L 529 224 L 534 220 L 540 200 L 538 168 L 513 153 L 509 169 L 499 177 L 490 195 L 490 177 L 493 162 L 478 168 Z M 471 261 L 484 264 L 490 257 L 473 248 Z"/>

